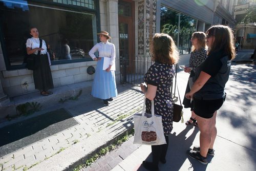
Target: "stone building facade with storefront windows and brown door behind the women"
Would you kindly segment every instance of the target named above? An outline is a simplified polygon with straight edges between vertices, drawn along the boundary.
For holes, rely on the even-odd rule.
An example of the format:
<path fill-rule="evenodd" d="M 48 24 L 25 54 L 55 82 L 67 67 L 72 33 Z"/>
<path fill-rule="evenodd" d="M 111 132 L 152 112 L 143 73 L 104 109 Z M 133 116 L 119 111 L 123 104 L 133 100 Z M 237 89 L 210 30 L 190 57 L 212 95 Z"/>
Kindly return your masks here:
<path fill-rule="evenodd" d="M 215 24 L 236 25 L 233 5 L 214 0 L 0 0 L 0 103 L 36 91 L 24 60 L 31 26 L 38 28 L 39 37 L 54 53 L 54 87 L 93 79 L 87 68 L 96 67 L 96 61 L 88 52 L 99 41 L 100 30 L 108 31 L 115 44 L 118 83 L 124 73 L 147 70 L 143 61 L 151 61 L 155 33 L 171 35 L 181 56 L 189 55 L 193 32 L 205 32 Z M 63 58 L 63 39 L 69 41 L 71 59 Z"/>

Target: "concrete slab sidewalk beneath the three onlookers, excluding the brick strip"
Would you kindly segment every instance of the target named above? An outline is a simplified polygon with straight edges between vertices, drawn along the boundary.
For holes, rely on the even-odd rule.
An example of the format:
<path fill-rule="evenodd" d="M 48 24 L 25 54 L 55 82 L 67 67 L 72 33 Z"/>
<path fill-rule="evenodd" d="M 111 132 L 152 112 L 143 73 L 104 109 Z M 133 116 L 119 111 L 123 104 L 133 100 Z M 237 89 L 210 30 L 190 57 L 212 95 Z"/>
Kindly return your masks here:
<path fill-rule="evenodd" d="M 236 60 L 246 61 L 252 52 L 252 50 L 240 51 Z M 184 64 L 181 63 L 181 65 Z M 159 164 L 160 170 L 256 170 L 255 69 L 256 66 L 253 63 L 232 62 L 231 75 L 225 89 L 227 99 L 217 116 L 216 152 L 214 157 L 208 157 L 208 165 L 202 165 L 186 155 L 187 149 L 199 144 L 199 129 L 175 122 L 172 134 L 169 135 L 167 163 Z M 177 77 L 183 99 L 188 75 L 179 70 Z M 190 117 L 190 111 L 184 109 L 183 112 L 186 121 Z M 123 159 L 124 157 L 125 159 Z M 115 160 L 121 160 L 121 162 L 113 167 Z M 83 171 L 146 171 L 141 165 L 144 160 L 152 160 L 151 147 L 133 144 L 133 138 L 131 138 Z M 107 168 L 104 163 L 107 163 L 106 165 L 112 169 L 102 169 L 103 167 Z"/>

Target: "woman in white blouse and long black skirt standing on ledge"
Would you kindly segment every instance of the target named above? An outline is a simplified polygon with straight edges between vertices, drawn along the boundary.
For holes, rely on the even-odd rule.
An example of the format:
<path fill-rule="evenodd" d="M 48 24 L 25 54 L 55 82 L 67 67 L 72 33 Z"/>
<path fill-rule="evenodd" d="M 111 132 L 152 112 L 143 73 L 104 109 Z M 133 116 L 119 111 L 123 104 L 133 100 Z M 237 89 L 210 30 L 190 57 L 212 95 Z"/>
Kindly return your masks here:
<path fill-rule="evenodd" d="M 48 96 L 52 94 L 52 92 L 48 90 L 53 89 L 53 81 L 47 56 L 46 42 L 42 40 L 42 46 L 40 48 L 39 32 L 35 27 L 30 28 L 30 35 L 32 35 L 32 37 L 28 38 L 26 42 L 27 54 L 37 55 L 38 51 L 40 51 L 40 55 L 37 55 L 40 65 L 38 69 L 33 71 L 35 89 L 39 90 L 41 95 Z"/>

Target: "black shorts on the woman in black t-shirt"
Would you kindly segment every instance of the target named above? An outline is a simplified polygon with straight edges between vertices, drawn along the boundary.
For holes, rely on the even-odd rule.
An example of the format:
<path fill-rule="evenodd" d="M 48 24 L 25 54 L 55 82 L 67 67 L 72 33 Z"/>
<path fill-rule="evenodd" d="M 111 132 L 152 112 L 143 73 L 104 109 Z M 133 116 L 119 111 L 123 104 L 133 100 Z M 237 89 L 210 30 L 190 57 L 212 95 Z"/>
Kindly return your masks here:
<path fill-rule="evenodd" d="M 216 100 L 201 100 L 194 98 L 194 113 L 202 118 L 209 119 L 214 116 L 215 111 L 219 110 L 225 101 L 225 97 Z"/>

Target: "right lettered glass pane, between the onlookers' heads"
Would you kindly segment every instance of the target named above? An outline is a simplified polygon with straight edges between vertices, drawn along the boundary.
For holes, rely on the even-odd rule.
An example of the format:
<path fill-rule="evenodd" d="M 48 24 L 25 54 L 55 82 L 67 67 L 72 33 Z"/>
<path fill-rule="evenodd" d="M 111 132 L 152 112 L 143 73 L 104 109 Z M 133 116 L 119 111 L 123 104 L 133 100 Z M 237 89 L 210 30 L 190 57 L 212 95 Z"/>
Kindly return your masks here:
<path fill-rule="evenodd" d="M 196 32 L 197 19 L 185 14 L 180 14 L 180 36 L 179 36 L 179 52 L 180 54 L 188 54 L 191 51 L 191 35 Z"/>

